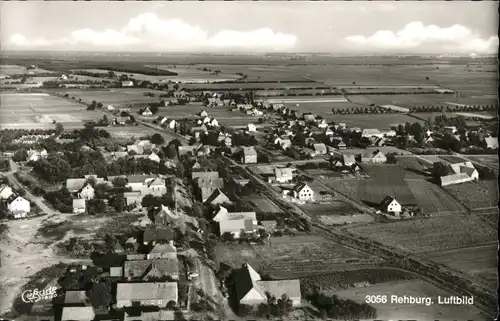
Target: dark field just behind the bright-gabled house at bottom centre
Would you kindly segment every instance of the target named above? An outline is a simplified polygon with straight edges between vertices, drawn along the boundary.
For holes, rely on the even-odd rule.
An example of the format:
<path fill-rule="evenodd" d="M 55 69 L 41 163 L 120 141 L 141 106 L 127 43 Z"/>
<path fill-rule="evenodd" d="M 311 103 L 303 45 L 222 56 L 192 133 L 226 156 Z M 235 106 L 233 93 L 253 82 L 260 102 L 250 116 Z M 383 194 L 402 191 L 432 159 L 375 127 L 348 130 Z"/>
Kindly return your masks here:
<path fill-rule="evenodd" d="M 217 264 L 239 267 L 248 262 L 257 270 L 276 277 L 299 277 L 344 270 L 346 263 L 376 264 L 380 259 L 331 243 L 318 236 L 271 238 L 266 245 L 219 244 L 214 249 Z"/>

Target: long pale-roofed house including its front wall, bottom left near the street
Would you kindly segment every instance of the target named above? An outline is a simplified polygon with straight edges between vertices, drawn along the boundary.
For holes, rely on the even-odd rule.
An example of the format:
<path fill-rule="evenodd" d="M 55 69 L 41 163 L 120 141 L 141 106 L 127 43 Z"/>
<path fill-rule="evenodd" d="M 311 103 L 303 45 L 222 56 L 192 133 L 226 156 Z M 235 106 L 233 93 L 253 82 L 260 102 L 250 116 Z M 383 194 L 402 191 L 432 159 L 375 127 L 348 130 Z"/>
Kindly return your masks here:
<path fill-rule="evenodd" d="M 118 283 L 116 307 L 140 305 L 165 308 L 170 302 L 177 304 L 177 294 L 177 282 Z"/>

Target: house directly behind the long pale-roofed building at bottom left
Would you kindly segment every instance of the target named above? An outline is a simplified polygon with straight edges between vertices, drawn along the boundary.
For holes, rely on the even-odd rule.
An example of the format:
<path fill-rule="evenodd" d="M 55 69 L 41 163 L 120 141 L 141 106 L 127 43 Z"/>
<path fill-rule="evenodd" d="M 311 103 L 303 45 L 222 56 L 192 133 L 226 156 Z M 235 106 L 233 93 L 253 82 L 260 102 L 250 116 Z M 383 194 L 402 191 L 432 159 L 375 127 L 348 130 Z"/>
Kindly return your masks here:
<path fill-rule="evenodd" d="M 164 245 L 164 244 L 156 244 Z M 158 253 L 157 253 L 158 254 Z M 161 254 L 161 253 L 159 253 Z M 123 262 L 123 276 L 128 280 L 156 280 L 169 277 L 173 280 L 179 278 L 179 261 L 177 254 L 171 258 L 148 258 L 128 260 Z"/>

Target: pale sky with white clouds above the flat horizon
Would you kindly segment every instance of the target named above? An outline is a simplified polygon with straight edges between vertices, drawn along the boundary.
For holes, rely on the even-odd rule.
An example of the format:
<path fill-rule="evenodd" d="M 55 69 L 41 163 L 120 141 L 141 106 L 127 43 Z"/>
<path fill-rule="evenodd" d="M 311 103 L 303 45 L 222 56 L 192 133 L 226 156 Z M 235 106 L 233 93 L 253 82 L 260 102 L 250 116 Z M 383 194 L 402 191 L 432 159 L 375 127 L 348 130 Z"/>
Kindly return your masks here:
<path fill-rule="evenodd" d="M 1 50 L 492 54 L 471 1 L 1 2 Z"/>

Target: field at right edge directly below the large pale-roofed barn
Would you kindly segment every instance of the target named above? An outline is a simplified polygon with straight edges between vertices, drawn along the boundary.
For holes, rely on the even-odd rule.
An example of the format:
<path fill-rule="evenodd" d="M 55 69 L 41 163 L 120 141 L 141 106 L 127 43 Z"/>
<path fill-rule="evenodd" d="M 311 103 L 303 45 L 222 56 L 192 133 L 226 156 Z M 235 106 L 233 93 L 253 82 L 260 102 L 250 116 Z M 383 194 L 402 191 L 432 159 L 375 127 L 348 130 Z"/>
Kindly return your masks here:
<path fill-rule="evenodd" d="M 444 189 L 471 210 L 495 207 L 498 203 L 498 182 L 495 180 L 449 185 Z"/>

